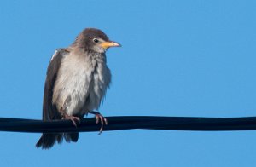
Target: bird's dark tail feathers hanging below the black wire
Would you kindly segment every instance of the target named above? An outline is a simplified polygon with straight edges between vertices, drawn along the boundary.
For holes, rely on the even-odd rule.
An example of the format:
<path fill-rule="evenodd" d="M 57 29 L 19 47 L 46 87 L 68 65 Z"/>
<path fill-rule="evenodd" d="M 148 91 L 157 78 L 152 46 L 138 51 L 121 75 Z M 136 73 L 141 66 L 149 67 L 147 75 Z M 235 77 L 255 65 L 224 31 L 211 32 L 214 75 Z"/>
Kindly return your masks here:
<path fill-rule="evenodd" d="M 63 141 L 63 137 L 67 142 L 76 142 L 79 140 L 79 133 L 44 133 L 38 140 L 36 147 L 42 147 L 42 149 L 49 149 L 50 147 L 53 147 L 55 142 L 61 144 Z"/>

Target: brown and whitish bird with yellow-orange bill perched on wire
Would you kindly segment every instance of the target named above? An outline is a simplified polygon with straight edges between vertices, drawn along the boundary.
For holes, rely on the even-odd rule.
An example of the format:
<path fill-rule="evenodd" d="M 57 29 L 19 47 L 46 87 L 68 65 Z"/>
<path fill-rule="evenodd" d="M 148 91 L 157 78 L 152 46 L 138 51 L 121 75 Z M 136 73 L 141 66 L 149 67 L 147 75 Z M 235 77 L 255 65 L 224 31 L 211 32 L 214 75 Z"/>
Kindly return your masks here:
<path fill-rule="evenodd" d="M 66 119 L 78 126 L 80 119 L 91 113 L 96 124 L 102 124 L 101 133 L 108 120 L 96 111 L 111 83 L 106 51 L 120 46 L 102 30 L 85 28 L 70 46 L 56 49 L 44 83 L 43 121 Z M 36 147 L 49 149 L 63 139 L 77 142 L 79 133 L 43 133 Z"/>

